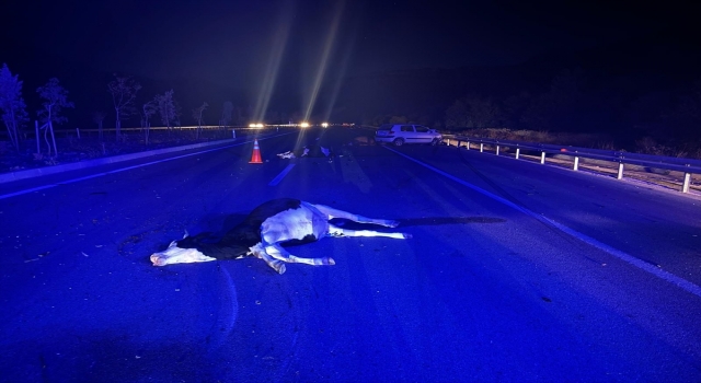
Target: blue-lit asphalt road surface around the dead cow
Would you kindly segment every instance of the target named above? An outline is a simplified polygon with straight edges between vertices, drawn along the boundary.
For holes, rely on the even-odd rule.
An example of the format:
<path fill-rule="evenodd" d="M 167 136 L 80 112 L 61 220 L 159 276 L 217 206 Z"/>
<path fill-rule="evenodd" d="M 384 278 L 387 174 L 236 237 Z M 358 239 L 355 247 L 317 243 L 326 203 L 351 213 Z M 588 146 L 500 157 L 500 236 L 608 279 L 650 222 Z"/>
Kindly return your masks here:
<path fill-rule="evenodd" d="M 701 381 L 698 197 L 358 134 L 0 184 L 0 381 Z M 275 155 L 319 137 L 333 161 Z M 413 239 L 151 266 L 276 197 Z"/>

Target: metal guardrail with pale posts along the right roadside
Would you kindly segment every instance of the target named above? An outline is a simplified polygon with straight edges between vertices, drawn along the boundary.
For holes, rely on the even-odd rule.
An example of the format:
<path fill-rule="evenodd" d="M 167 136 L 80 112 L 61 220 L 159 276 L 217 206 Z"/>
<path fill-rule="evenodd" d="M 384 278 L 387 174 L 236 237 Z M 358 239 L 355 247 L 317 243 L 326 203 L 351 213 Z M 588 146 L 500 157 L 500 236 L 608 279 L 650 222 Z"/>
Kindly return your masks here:
<path fill-rule="evenodd" d="M 516 159 L 518 160 L 521 150 L 540 152 L 540 163 L 545 163 L 547 154 L 560 154 L 573 158 L 573 170 L 577 171 L 579 167 L 579 158 L 609 161 L 618 163 L 618 179 L 623 178 L 623 169 L 625 164 L 646 166 L 652 169 L 664 169 L 668 171 L 677 171 L 683 173 L 683 183 L 681 186 L 681 193 L 689 193 L 689 184 L 691 182 L 691 174 L 701 174 L 701 160 L 683 159 L 675 156 L 662 156 L 651 154 L 629 153 L 623 151 L 600 150 L 589 148 L 578 148 L 571 146 L 555 146 L 536 142 L 521 142 L 510 140 L 495 140 L 485 138 L 473 138 L 455 135 L 444 135 L 444 140 L 450 144 L 450 140 L 456 140 L 458 147 L 462 142 L 467 143 L 468 150 L 470 150 L 471 143 L 479 143 L 480 151 L 484 151 L 484 146 L 489 144 L 495 148 L 496 155 L 499 155 L 502 148 L 515 148 Z"/>

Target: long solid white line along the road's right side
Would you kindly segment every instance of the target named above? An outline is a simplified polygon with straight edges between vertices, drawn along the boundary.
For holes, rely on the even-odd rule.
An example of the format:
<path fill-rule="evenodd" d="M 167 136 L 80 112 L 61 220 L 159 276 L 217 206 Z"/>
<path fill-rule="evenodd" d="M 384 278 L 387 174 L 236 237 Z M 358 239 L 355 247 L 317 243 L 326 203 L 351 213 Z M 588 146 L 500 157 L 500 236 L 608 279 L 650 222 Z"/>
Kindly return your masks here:
<path fill-rule="evenodd" d="M 536 212 L 532 212 L 532 211 L 530 211 L 530 210 L 528 210 L 528 209 L 526 209 L 524 207 L 520 207 L 520 206 L 518 206 L 518 205 L 516 205 L 516 204 L 514 204 L 514 202 L 512 202 L 512 201 L 509 201 L 507 199 L 504 199 L 504 198 L 502 198 L 502 197 L 499 197 L 497 195 L 494 195 L 494 194 L 492 194 L 492 193 L 490 193 L 490 192 L 487 192 L 487 190 L 485 190 L 485 189 L 483 189 L 481 187 L 474 186 L 474 185 L 468 183 L 467 181 L 463 181 L 463 179 L 460 179 L 460 178 L 458 178 L 458 177 L 456 177 L 453 175 L 450 175 L 450 174 L 448 174 L 448 173 L 446 173 L 446 172 L 444 172 L 444 171 L 441 171 L 441 170 L 439 170 L 437 167 L 434 167 L 434 166 L 432 166 L 432 165 L 429 165 L 429 164 L 427 164 L 425 162 L 418 161 L 418 160 L 416 160 L 416 159 L 414 159 L 412 156 L 409 156 L 409 155 L 406 155 L 404 153 L 398 152 L 397 150 L 390 149 L 388 147 L 384 147 L 384 149 L 387 149 L 389 151 L 392 151 L 392 152 L 394 152 L 394 153 L 397 153 L 397 154 L 399 154 L 399 155 L 401 155 L 401 156 L 403 156 L 403 158 L 405 158 L 405 159 L 407 159 L 410 161 L 413 161 L 413 162 L 415 162 L 415 163 L 417 163 L 417 164 L 420 164 L 420 165 L 422 165 L 422 166 L 424 166 L 424 167 L 426 167 L 428 170 L 432 170 L 432 171 L 434 171 L 434 172 L 436 172 L 436 173 L 438 173 L 438 174 L 440 174 L 440 175 L 443 175 L 443 176 L 445 176 L 447 178 L 450 178 L 450 179 L 452 179 L 452 181 L 455 181 L 455 182 L 457 182 L 457 183 L 459 183 L 459 184 L 461 184 L 463 186 L 467 186 L 467 187 L 471 188 L 474 192 L 478 192 L 478 193 L 480 193 L 480 194 L 482 194 L 482 195 L 484 195 L 486 197 L 490 197 L 490 198 L 492 198 L 492 199 L 494 199 L 494 200 L 496 200 L 498 202 L 502 202 L 502 204 L 504 204 L 504 205 L 506 205 L 506 206 L 508 206 L 508 207 L 510 207 L 513 209 L 516 209 L 516 210 L 518 210 L 518 211 L 520 211 L 520 212 L 522 212 L 522 213 L 525 213 L 527 216 L 530 216 L 530 217 L 532 217 L 532 218 L 535 218 L 535 219 L 537 219 L 537 220 L 539 220 L 539 221 L 541 221 L 541 222 L 543 222 L 543 223 L 545 223 L 545 224 L 548 224 L 550 227 L 553 227 L 553 228 L 562 231 L 563 233 L 570 234 L 570 235 L 574 236 L 575 239 L 577 239 L 577 240 L 579 240 L 579 241 L 582 241 L 582 242 L 584 242 L 584 243 L 586 243 L 588 245 L 591 245 L 591 246 L 594 246 L 594 247 L 596 247 L 596 248 L 598 248 L 598 249 L 600 249 L 602 252 L 606 252 L 606 253 L 608 253 L 608 254 L 610 254 L 610 255 L 612 255 L 612 256 L 614 256 L 614 257 L 617 257 L 617 258 L 619 258 L 619 259 L 621 259 L 623 262 L 627 262 L 627 263 L 640 268 L 641 270 L 647 271 L 647 272 L 652 274 L 653 276 L 655 276 L 657 278 L 666 280 L 669 283 L 676 285 L 679 288 L 681 288 L 682 290 L 685 290 L 687 292 L 690 292 L 690 293 L 701 298 L 701 287 L 699 287 L 698 285 L 694 285 L 693 282 L 690 282 L 690 281 L 688 281 L 688 280 L 686 280 L 683 278 L 677 277 L 676 275 L 674 275 L 671 272 L 665 271 L 665 270 L 663 270 L 663 269 L 660 269 L 660 268 L 658 268 L 658 267 L 656 267 L 654 265 L 651 265 L 651 264 L 648 264 L 648 263 L 646 263 L 644 260 L 641 260 L 641 259 L 639 259 L 639 258 L 636 258 L 636 257 L 634 257 L 634 256 L 632 256 L 632 255 L 630 255 L 630 254 L 628 254 L 625 252 L 621 252 L 621 251 L 619 251 L 617 248 L 613 248 L 613 247 L 611 247 L 611 246 L 609 246 L 609 245 L 607 245 L 605 243 L 601 243 L 601 242 L 599 242 L 599 241 L 597 241 L 597 240 L 595 240 L 595 239 L 593 239 L 590 236 L 587 236 L 587 235 L 585 235 L 583 233 L 579 233 L 576 230 L 570 229 L 570 228 L 565 227 L 564 224 L 558 223 L 558 222 L 555 222 L 555 221 L 553 221 L 553 220 L 551 220 L 551 219 L 549 219 L 549 218 L 547 218 L 547 217 L 544 217 L 542 214 L 538 214 Z"/>

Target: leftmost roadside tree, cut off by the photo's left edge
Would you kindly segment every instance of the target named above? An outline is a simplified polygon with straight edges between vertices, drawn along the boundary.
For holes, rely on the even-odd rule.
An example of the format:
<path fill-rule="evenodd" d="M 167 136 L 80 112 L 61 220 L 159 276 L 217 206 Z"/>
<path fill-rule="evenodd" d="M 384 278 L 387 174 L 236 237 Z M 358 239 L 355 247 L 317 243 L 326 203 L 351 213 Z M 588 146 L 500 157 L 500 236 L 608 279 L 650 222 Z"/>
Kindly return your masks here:
<path fill-rule="evenodd" d="M 3 63 L 0 69 L 0 112 L 2 121 L 8 128 L 10 142 L 16 151 L 20 150 L 20 128 L 28 120 L 26 105 L 22 98 L 22 81 L 14 77 Z"/>

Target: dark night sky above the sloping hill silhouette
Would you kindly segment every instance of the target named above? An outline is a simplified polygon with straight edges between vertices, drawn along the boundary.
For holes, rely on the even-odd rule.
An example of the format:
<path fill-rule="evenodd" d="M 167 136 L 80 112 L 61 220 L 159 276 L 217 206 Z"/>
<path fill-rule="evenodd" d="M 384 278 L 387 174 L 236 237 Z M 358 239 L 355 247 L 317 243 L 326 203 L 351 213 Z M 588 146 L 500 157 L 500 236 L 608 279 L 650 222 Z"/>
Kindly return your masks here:
<path fill-rule="evenodd" d="M 517 66 L 656 34 L 689 39 L 699 11 L 674 1 L 10 0 L 0 61 L 28 86 L 67 77 L 78 100 L 103 86 L 78 78 L 118 72 L 197 84 L 181 95 L 238 92 L 253 104 L 272 89 L 302 105 L 315 83 L 347 77 Z"/>

